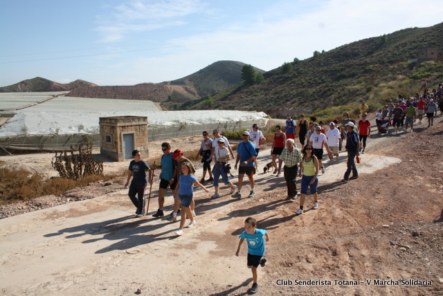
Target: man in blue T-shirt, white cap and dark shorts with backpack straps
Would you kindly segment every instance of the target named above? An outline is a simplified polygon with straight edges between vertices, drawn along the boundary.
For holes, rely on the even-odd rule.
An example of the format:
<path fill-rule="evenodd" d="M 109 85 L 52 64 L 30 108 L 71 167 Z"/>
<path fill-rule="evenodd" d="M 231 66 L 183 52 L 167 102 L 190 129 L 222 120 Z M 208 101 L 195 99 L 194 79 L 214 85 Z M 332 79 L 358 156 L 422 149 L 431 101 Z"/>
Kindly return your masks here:
<path fill-rule="evenodd" d="M 257 158 L 257 152 L 252 142 L 249 141 L 249 132 L 243 132 L 243 142 L 239 142 L 237 146 L 237 158 L 235 158 L 235 169 L 238 169 L 238 186 L 237 193 L 233 198 L 242 198 L 240 193 L 243 186 L 244 174 L 248 175 L 249 182 L 251 183 L 251 192 L 248 197 L 255 196 L 254 190 L 254 174 L 255 174 L 255 158 Z M 240 166 L 238 167 L 238 163 Z"/>

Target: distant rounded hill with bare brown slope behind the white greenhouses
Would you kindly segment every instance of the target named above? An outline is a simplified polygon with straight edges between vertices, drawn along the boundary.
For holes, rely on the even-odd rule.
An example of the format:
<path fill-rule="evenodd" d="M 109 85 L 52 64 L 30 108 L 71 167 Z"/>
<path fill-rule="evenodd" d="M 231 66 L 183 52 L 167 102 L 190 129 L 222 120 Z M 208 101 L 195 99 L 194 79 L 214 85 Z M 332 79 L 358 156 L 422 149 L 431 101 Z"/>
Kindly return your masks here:
<path fill-rule="evenodd" d="M 69 93 L 72 97 L 109 98 L 123 100 L 150 100 L 163 102 L 165 109 L 173 109 L 174 104 L 198 100 L 217 91 L 242 82 L 244 63 L 219 61 L 205 68 L 170 82 L 159 84 L 143 83 L 134 86 L 99 86 L 94 89 L 79 87 Z M 256 68 L 256 71 L 264 72 Z M 177 105 L 176 105 L 177 107 Z"/>

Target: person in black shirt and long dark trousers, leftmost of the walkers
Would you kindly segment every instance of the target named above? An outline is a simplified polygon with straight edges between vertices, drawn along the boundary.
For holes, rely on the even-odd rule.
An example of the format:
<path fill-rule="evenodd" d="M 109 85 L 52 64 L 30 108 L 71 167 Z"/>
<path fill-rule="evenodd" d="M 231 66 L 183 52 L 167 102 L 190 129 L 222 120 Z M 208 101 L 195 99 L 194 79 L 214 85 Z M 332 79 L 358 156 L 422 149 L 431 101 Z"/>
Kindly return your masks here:
<path fill-rule="evenodd" d="M 134 160 L 131 160 L 129 163 L 125 188 L 129 185 L 129 180 L 131 180 L 132 177 L 128 195 L 132 203 L 136 206 L 136 216 L 141 217 L 145 215 L 146 172 L 149 172 L 149 182 L 150 185 L 152 185 L 152 169 L 145 160 L 141 159 L 140 151 L 132 151 L 132 157 Z"/>

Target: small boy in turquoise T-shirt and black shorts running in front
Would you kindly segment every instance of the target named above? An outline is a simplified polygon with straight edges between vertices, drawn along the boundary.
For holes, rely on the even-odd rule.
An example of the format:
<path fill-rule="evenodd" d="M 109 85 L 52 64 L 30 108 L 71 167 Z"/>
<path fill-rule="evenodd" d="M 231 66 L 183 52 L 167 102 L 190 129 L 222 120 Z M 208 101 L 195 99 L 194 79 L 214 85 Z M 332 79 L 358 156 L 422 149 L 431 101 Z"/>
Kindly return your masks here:
<path fill-rule="evenodd" d="M 240 241 L 238 243 L 237 252 L 235 253 L 235 256 L 238 256 L 240 252 L 240 247 L 242 246 L 242 243 L 244 239 L 248 242 L 248 268 L 251 268 L 252 270 L 252 277 L 253 277 L 253 285 L 252 288 L 248 290 L 249 294 L 255 294 L 258 290 L 258 284 L 257 284 L 257 267 L 260 264 L 260 266 L 264 267 L 264 264 L 266 263 L 266 258 L 262 257 L 264 255 L 264 239 L 263 237 L 266 237 L 266 241 L 269 241 L 268 234 L 266 230 L 264 229 L 257 229 L 257 221 L 253 219 L 252 217 L 248 217 L 244 221 L 244 229 L 245 231 L 240 234 L 239 238 Z"/>

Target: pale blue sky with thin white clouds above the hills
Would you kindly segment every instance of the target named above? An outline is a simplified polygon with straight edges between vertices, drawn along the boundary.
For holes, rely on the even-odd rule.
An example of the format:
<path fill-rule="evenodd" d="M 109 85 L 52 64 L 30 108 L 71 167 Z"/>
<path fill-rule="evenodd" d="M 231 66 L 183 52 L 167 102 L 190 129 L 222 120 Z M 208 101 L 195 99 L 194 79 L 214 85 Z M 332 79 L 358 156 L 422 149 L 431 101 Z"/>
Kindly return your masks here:
<path fill-rule="evenodd" d="M 264 71 L 442 21 L 441 0 L 4 0 L 0 86 L 176 80 L 219 60 Z M 440 7 L 440 9 L 438 9 Z M 443 48 L 441 49 L 443 50 Z"/>

